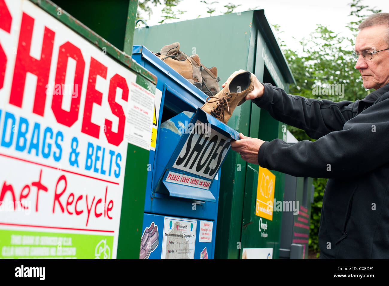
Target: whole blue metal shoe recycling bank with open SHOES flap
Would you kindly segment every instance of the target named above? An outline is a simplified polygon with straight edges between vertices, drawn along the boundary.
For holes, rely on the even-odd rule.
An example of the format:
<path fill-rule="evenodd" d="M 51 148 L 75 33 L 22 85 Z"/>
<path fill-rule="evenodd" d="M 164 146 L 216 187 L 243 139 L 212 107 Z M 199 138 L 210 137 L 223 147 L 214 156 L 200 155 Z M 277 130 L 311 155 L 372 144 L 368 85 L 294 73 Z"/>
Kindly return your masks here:
<path fill-rule="evenodd" d="M 144 46 L 158 78 L 140 258 L 214 257 L 220 169 L 239 133 L 200 109 L 206 95 Z"/>

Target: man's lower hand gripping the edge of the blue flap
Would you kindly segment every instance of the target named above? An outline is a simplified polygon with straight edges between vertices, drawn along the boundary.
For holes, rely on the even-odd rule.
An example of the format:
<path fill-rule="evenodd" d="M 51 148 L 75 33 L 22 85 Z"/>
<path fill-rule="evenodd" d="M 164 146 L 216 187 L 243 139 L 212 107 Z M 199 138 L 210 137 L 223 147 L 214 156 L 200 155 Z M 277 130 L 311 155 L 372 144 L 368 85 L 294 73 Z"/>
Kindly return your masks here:
<path fill-rule="evenodd" d="M 258 151 L 263 144 L 263 140 L 251 138 L 239 133 L 240 140 L 231 141 L 231 149 L 240 154 L 240 158 L 249 163 L 258 165 Z"/>

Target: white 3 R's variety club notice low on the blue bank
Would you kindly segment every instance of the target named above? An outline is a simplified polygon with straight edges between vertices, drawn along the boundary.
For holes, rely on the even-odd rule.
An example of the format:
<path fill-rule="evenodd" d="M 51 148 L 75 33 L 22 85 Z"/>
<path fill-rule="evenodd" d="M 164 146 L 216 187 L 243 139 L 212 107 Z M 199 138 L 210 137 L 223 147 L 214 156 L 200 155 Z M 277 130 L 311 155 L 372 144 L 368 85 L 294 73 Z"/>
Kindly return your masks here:
<path fill-rule="evenodd" d="M 194 259 L 196 221 L 165 216 L 161 259 Z"/>

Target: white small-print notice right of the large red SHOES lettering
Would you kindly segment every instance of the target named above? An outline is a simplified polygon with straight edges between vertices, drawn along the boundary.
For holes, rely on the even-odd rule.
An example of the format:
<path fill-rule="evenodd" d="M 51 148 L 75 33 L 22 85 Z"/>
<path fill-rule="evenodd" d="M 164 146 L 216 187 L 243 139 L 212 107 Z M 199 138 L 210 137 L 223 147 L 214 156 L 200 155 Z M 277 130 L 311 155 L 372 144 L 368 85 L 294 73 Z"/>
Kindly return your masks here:
<path fill-rule="evenodd" d="M 124 137 L 128 143 L 150 150 L 155 95 L 135 82 L 129 88 Z"/>

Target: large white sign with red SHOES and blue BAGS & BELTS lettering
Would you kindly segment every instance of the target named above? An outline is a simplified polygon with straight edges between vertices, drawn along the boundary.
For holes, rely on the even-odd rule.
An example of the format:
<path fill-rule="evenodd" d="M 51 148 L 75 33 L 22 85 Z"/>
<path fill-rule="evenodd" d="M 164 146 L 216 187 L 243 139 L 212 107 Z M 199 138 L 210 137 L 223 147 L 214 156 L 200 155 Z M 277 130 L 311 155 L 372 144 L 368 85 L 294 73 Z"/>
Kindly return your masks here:
<path fill-rule="evenodd" d="M 5 4 L 0 258 L 116 258 L 136 74 L 35 4 Z"/>

